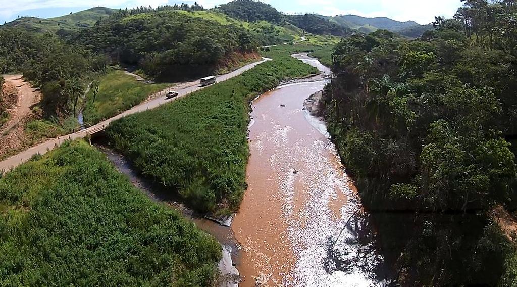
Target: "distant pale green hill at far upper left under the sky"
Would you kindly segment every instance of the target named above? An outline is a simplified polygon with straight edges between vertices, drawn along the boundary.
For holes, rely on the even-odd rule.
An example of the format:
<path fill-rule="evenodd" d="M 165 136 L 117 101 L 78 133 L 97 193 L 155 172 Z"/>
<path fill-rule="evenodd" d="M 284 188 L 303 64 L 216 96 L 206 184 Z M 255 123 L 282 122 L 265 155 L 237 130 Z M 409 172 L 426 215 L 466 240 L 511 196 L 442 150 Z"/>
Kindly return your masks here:
<path fill-rule="evenodd" d="M 94 7 L 65 16 L 41 19 L 36 17 L 21 17 L 5 26 L 22 27 L 35 32 L 77 31 L 84 27 L 93 26 L 98 20 L 109 17 L 117 10 L 106 7 Z"/>

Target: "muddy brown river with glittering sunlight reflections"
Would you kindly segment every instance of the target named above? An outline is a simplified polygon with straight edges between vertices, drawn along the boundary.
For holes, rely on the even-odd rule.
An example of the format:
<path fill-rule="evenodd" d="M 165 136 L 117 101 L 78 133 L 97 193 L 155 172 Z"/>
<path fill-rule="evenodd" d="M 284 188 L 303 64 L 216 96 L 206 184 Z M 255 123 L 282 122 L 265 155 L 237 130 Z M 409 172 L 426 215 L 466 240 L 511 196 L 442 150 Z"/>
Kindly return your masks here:
<path fill-rule="evenodd" d="M 325 124 L 304 109 L 326 83 L 286 85 L 252 104 L 249 188 L 232 224 L 241 286 L 385 285 L 368 214 Z"/>

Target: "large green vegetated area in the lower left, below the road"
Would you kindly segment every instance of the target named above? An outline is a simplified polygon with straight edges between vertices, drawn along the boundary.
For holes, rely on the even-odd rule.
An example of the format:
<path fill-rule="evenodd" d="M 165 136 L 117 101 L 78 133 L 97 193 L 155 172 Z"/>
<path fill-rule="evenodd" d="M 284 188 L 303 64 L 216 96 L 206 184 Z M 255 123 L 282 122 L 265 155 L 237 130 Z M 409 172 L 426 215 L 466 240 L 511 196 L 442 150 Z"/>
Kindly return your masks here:
<path fill-rule="evenodd" d="M 84 142 L 0 179 L 0 238 L 3 286 L 208 285 L 221 256 Z"/>

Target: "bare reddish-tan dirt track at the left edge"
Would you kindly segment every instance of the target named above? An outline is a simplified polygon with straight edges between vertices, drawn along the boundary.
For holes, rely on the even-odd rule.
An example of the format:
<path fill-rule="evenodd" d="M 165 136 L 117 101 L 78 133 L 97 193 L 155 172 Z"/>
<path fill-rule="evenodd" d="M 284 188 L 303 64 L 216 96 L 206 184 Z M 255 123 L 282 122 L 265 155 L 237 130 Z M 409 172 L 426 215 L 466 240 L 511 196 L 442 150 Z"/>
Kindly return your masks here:
<path fill-rule="evenodd" d="M 4 125 L 2 131 L 6 131 L 14 127 L 20 120 L 31 113 L 32 105 L 41 100 L 41 93 L 31 84 L 22 79 L 21 74 L 5 75 L 6 83 L 16 87 L 18 90 L 18 104 L 16 108 L 11 110 L 11 120 Z"/>

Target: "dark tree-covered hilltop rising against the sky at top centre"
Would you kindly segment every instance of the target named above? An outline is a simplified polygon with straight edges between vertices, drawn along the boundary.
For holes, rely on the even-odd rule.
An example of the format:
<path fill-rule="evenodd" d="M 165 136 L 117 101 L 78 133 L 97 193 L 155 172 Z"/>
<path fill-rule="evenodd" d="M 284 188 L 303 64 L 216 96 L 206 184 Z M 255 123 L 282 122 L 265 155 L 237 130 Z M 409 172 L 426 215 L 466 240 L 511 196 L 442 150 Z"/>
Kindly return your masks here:
<path fill-rule="evenodd" d="M 281 23 L 282 13 L 269 4 L 254 0 L 235 0 L 217 7 L 226 15 L 247 22 L 268 21 Z"/>

